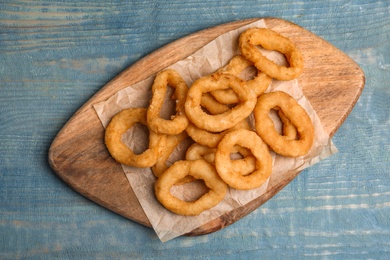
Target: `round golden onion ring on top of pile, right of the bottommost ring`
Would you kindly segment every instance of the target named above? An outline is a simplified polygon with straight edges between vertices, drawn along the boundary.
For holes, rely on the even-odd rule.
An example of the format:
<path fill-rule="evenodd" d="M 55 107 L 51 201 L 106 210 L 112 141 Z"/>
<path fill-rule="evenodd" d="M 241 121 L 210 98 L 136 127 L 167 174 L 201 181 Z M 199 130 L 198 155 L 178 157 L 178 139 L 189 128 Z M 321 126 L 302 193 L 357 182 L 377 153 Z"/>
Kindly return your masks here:
<path fill-rule="evenodd" d="M 249 149 L 256 158 L 253 172 L 243 175 L 234 170 L 230 154 L 235 145 Z M 232 188 L 249 190 L 258 188 L 272 173 L 272 157 L 267 145 L 253 131 L 240 129 L 226 134 L 215 154 L 215 167 L 219 176 Z"/>

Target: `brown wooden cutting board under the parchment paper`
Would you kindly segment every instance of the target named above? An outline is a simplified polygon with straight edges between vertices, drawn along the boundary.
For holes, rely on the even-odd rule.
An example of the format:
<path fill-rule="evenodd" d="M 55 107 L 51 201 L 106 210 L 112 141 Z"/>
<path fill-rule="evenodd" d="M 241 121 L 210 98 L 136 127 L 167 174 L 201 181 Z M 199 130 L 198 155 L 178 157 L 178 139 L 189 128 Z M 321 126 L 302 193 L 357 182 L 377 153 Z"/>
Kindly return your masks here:
<path fill-rule="evenodd" d="M 259 19 L 248 19 L 205 29 L 172 42 L 124 70 L 88 100 L 53 141 L 49 162 L 56 174 L 75 191 L 128 219 L 151 227 L 121 168 L 103 143 L 104 128 L 92 107 L 117 91 L 186 58 L 217 36 Z M 332 136 L 344 122 L 365 83 L 363 71 L 346 54 L 291 22 L 264 18 L 268 28 L 289 37 L 301 50 L 305 69 L 299 78 L 304 94 Z M 228 212 L 187 235 L 220 230 L 246 216 L 292 181 L 299 172 L 271 178 L 267 192 L 251 203 Z"/>

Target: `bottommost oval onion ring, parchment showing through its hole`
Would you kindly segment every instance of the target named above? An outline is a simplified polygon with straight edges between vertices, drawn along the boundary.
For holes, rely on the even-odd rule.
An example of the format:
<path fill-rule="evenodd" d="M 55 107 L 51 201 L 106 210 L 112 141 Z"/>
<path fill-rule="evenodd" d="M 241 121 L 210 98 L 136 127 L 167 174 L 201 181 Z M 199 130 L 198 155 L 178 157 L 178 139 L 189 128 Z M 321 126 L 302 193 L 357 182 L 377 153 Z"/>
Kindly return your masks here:
<path fill-rule="evenodd" d="M 199 199 L 191 202 L 173 196 L 170 192 L 171 187 L 187 175 L 203 179 L 210 190 Z M 173 213 L 185 216 L 196 216 L 216 206 L 225 197 L 227 188 L 215 167 L 204 160 L 177 161 L 155 183 L 157 200 Z"/>

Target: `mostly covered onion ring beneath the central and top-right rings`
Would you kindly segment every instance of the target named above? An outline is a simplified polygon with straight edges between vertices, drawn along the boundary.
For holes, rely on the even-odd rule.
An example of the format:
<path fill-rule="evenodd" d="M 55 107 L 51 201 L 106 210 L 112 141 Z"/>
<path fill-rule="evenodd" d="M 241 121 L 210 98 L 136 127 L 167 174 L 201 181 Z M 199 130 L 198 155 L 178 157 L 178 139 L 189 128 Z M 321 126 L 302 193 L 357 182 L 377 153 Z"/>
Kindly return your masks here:
<path fill-rule="evenodd" d="M 251 66 L 253 66 L 251 61 L 245 59 L 241 55 L 237 55 L 234 56 L 225 67 L 219 69 L 217 72 L 239 76 L 245 69 Z M 260 96 L 269 87 L 271 81 L 271 77 L 257 70 L 257 75 L 253 79 L 247 80 L 246 84 L 255 91 L 257 96 Z M 237 95 L 231 89 L 215 90 L 211 92 L 211 95 L 222 104 L 236 104 L 239 102 Z"/>

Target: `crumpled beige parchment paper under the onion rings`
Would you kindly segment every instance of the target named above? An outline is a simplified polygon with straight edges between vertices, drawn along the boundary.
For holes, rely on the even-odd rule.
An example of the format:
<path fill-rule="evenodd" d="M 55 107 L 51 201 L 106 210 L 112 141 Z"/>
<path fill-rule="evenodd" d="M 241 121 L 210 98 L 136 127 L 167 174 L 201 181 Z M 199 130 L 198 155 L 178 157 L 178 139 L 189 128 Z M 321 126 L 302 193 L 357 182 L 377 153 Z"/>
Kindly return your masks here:
<path fill-rule="evenodd" d="M 234 55 L 238 54 L 238 36 L 245 29 L 250 27 L 266 26 L 264 21 L 260 20 L 237 30 L 230 31 L 216 38 L 214 41 L 210 42 L 208 45 L 204 46 L 188 58 L 173 64 L 170 68 L 178 71 L 186 81 L 187 85 L 191 86 L 191 83 L 194 80 L 213 73 L 220 67 L 224 66 Z M 283 55 L 269 51 L 265 51 L 265 53 L 268 58 L 274 60 L 275 62 L 280 64 L 285 63 Z M 118 91 L 104 102 L 95 104 L 94 108 L 103 126 L 106 127 L 111 117 L 122 109 L 130 107 L 148 107 L 151 99 L 151 86 L 153 84 L 153 80 L 154 77 L 150 77 L 142 82 Z M 283 175 L 291 171 L 301 171 L 336 153 L 337 148 L 324 131 L 321 122 L 310 103 L 304 97 L 302 90 L 298 85 L 298 81 L 274 80 L 267 92 L 275 90 L 281 90 L 289 93 L 308 112 L 315 127 L 315 144 L 307 155 L 299 158 L 286 158 L 272 153 L 272 175 Z M 275 119 L 275 123 L 277 125 L 280 122 Z M 145 134 L 142 135 L 140 130 L 129 130 L 128 133 L 124 135 L 122 141 L 134 150 L 142 150 L 145 148 Z M 173 157 L 179 156 L 180 154 L 183 154 L 183 150 L 177 151 Z M 175 158 L 171 158 L 171 160 L 174 161 Z M 229 189 L 225 199 L 216 207 L 203 212 L 199 216 L 184 217 L 166 210 L 156 200 L 154 195 L 154 183 L 156 179 L 150 168 L 140 169 L 125 165 L 122 165 L 122 167 L 132 189 L 145 211 L 145 214 L 152 224 L 156 234 L 163 242 L 188 233 L 191 230 L 218 218 L 224 213 L 233 210 L 234 208 L 249 203 L 266 192 L 269 182 L 268 180 L 260 188 L 250 191 Z M 199 194 L 201 194 L 202 189 L 199 186 L 196 186 L 197 184 L 186 185 L 187 186 L 185 186 L 185 188 L 176 187 L 172 191 L 173 194 L 181 198 L 192 197 L 194 196 L 192 194 L 194 189 L 197 193 L 195 196 L 199 196 Z"/>

